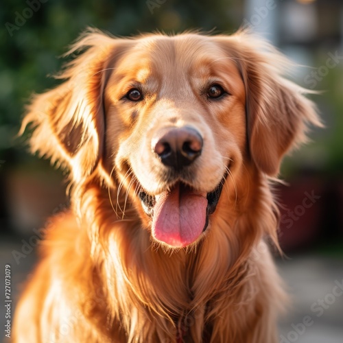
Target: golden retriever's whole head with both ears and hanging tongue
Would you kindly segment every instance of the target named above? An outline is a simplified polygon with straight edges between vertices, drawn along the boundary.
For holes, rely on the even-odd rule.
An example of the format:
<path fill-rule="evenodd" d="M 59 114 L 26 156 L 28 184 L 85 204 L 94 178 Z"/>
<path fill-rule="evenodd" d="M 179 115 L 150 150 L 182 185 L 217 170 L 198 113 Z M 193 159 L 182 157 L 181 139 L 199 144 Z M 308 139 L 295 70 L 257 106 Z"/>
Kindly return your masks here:
<path fill-rule="evenodd" d="M 74 185 L 96 175 L 123 187 L 168 246 L 198 241 L 226 184 L 276 175 L 307 124 L 320 125 L 304 90 L 282 77 L 289 62 L 244 32 L 91 32 L 79 49 L 64 83 L 29 108 L 32 149 L 67 166 Z"/>

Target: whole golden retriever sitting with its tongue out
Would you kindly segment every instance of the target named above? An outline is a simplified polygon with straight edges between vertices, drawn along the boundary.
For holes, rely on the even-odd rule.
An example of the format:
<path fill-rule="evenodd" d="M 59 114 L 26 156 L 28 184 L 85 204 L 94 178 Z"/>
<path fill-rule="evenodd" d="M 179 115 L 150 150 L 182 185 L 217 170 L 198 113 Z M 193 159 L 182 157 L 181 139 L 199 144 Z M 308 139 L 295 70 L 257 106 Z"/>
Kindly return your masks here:
<path fill-rule="evenodd" d="M 23 119 L 69 171 L 14 342 L 278 342 L 272 182 L 321 126 L 292 67 L 245 30 L 88 29 Z"/>

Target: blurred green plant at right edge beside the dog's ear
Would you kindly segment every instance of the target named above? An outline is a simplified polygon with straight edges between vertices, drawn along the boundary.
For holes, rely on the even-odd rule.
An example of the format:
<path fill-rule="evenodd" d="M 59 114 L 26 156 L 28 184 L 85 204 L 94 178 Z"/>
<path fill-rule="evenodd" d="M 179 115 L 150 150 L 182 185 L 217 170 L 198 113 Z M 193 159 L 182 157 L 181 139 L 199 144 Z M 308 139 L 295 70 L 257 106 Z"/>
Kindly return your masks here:
<path fill-rule="evenodd" d="M 325 128 L 309 132 L 309 143 L 286 158 L 283 176 L 303 171 L 342 176 L 343 171 L 343 52 L 319 48 L 313 68 L 298 80 L 303 86 L 318 91 L 311 99 L 318 105 Z M 302 82 L 303 81 L 303 82 Z"/>

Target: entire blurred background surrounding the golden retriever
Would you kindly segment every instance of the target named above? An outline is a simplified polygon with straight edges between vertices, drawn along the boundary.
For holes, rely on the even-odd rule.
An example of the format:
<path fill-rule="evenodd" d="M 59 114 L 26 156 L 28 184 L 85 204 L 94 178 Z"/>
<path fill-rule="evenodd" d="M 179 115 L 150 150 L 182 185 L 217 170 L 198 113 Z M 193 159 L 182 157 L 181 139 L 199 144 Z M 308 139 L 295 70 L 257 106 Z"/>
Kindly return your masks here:
<path fill-rule="evenodd" d="M 342 0 L 2 0 L 0 21 L 0 290 L 2 298 L 9 264 L 12 312 L 36 261 L 38 229 L 68 202 L 62 172 L 16 138 L 29 96 L 57 83 L 49 75 L 60 69 L 67 45 L 87 26 L 131 36 L 192 28 L 230 34 L 243 25 L 309 66 L 298 67 L 293 80 L 322 91 L 311 98 L 326 125 L 285 159 L 288 185 L 277 187 L 287 255 L 278 266 L 294 300 L 280 342 L 343 342 Z M 3 331 L 0 337 L 6 342 Z"/>

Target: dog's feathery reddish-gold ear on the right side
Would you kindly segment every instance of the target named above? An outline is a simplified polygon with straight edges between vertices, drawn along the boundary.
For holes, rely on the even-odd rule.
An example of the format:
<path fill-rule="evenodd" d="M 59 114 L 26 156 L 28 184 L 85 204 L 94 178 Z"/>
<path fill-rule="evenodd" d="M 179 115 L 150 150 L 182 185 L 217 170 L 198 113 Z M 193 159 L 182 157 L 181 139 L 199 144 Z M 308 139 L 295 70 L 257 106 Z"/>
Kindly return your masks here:
<path fill-rule="evenodd" d="M 307 128 L 322 126 L 307 90 L 283 78 L 292 63 L 265 41 L 246 32 L 226 39 L 246 88 L 248 148 L 252 161 L 269 176 L 281 158 L 306 140 Z M 314 93 L 314 92 L 312 92 Z"/>

